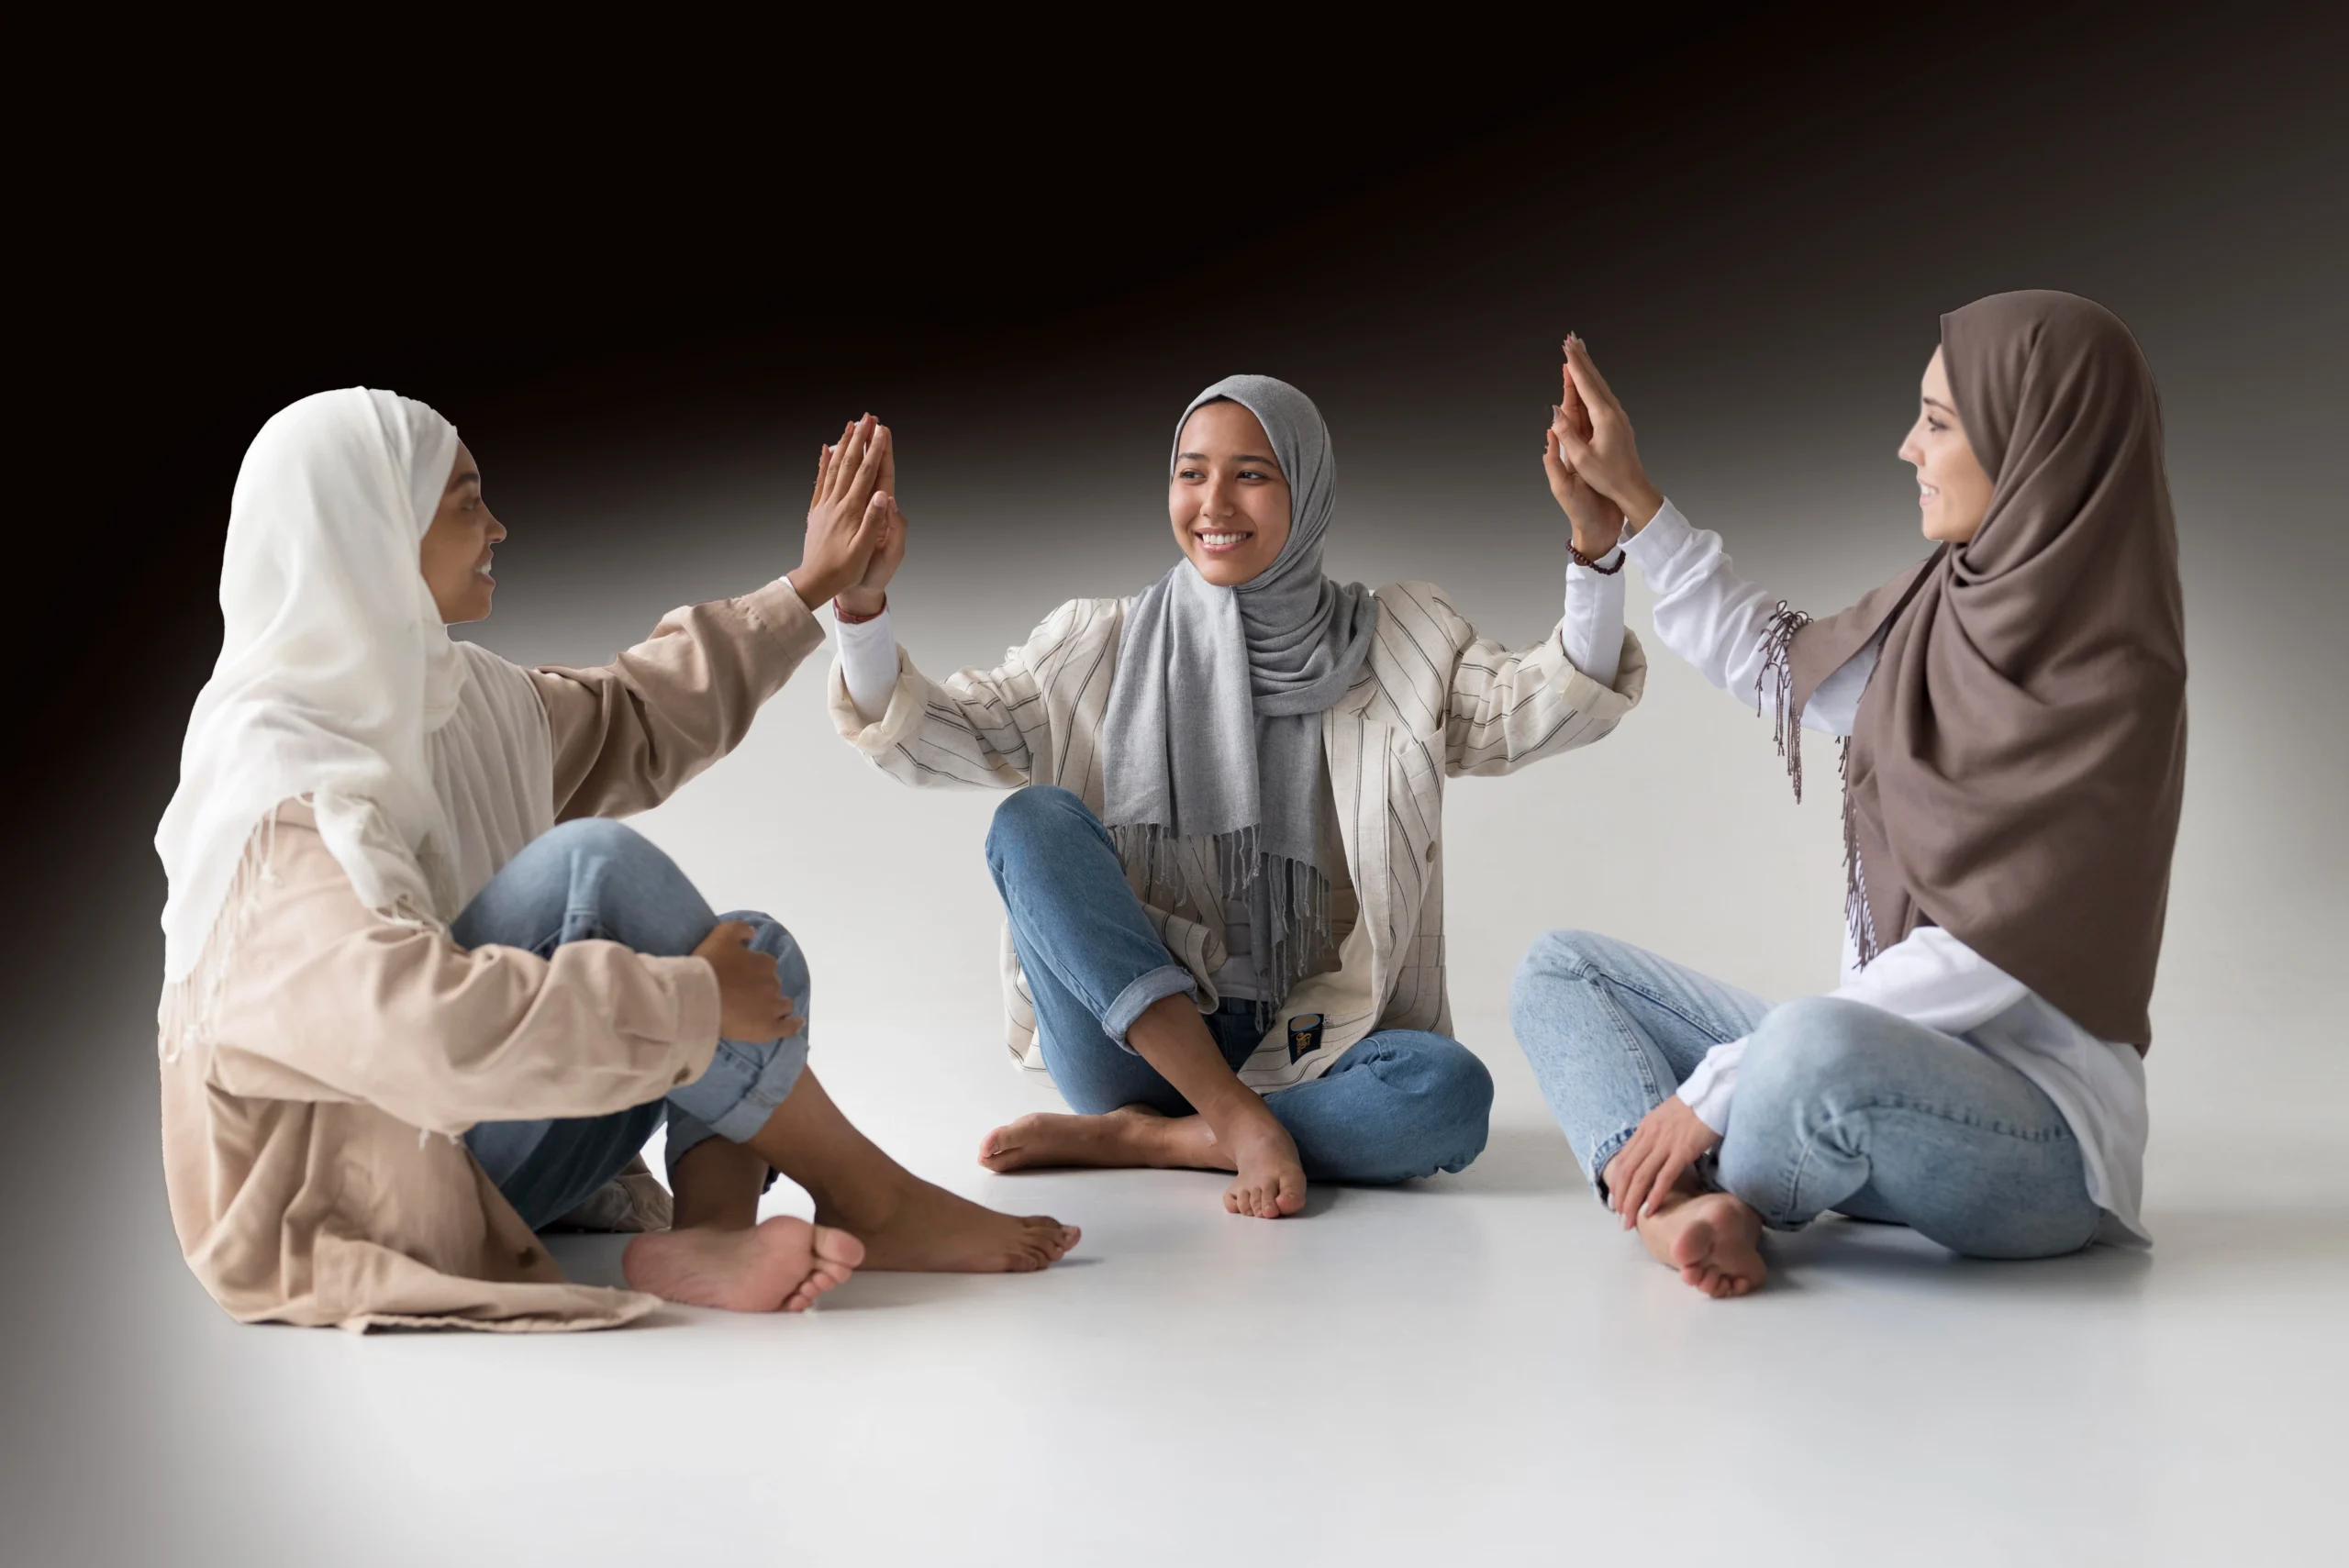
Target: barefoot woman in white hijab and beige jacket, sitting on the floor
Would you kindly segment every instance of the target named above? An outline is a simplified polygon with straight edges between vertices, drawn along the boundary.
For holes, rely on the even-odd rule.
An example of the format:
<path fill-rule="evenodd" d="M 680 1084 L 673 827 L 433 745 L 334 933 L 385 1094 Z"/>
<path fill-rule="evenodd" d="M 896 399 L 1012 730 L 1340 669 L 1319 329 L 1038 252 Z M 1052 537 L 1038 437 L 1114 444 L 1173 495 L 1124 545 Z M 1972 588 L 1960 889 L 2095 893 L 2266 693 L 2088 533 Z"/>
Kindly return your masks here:
<path fill-rule="evenodd" d="M 390 392 L 308 397 L 237 474 L 221 660 L 155 836 L 162 1122 L 190 1268 L 240 1319 L 615 1324 L 658 1298 L 803 1310 L 857 1265 L 1024 1270 L 1076 1232 L 916 1181 L 824 1096 L 808 967 L 719 920 L 606 817 L 723 756 L 822 641 L 895 519 L 888 430 L 824 451 L 787 577 L 672 613 L 604 669 L 449 638 L 489 615 L 503 523 L 456 430 Z M 677 1228 L 634 1291 L 531 1235 Z M 770 1171 L 817 1223 L 756 1204 Z"/>

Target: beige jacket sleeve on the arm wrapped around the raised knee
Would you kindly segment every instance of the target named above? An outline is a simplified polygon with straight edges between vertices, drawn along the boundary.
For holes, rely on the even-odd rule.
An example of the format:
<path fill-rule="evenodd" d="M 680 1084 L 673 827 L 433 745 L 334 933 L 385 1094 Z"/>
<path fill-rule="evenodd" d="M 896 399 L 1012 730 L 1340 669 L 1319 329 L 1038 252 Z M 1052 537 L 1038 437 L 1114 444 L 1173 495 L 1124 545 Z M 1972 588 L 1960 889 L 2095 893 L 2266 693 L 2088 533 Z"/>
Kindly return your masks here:
<path fill-rule="evenodd" d="M 261 833 L 268 833 L 263 826 Z M 211 1080 L 277 1101 L 366 1101 L 428 1131 L 583 1117 L 709 1068 L 721 1023 L 702 958 L 571 941 L 465 951 L 364 908 L 310 810 L 277 810 L 270 876 L 223 946 Z"/>

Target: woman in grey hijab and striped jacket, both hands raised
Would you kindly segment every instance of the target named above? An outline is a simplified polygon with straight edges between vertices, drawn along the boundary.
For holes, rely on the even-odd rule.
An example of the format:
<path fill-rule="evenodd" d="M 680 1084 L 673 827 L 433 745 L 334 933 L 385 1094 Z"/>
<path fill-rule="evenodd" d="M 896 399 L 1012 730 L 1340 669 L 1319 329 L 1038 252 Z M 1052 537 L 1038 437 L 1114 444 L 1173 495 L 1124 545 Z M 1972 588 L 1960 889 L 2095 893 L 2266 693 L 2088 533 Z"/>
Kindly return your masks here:
<path fill-rule="evenodd" d="M 1017 789 L 987 836 L 1010 1047 L 1078 1115 L 998 1127 L 989 1169 L 1224 1169 L 1229 1211 L 1280 1218 L 1308 1178 L 1482 1153 L 1492 1077 L 1445 998 L 1445 777 L 1637 702 L 1616 528 L 1576 528 L 1567 617 L 1513 653 L 1426 582 L 1330 580 L 1334 509 L 1313 401 L 1231 376 L 1177 423 L 1184 559 L 1139 596 L 1071 601 L 944 683 L 888 629 L 902 530 L 834 601 L 841 735 L 907 784 Z"/>

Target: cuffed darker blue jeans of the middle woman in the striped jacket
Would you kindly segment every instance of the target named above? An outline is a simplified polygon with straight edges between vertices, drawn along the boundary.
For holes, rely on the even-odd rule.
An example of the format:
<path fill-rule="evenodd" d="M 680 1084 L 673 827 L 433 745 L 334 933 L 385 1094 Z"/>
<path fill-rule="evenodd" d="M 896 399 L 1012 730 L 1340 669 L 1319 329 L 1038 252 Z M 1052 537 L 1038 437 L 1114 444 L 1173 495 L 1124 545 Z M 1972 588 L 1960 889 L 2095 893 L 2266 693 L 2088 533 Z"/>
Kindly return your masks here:
<path fill-rule="evenodd" d="M 1031 784 L 996 810 L 987 866 L 1036 1000 L 1043 1061 L 1069 1108 L 1191 1115 L 1125 1030 L 1151 1002 L 1196 998 L 1198 986 L 1151 930 L 1102 822 L 1066 789 Z M 1261 1042 L 1247 1002 L 1207 1014 L 1207 1033 L 1233 1070 Z M 1485 1153 L 1492 1073 L 1459 1040 L 1381 1028 L 1264 1103 L 1297 1138 L 1306 1176 L 1407 1181 L 1463 1171 Z"/>

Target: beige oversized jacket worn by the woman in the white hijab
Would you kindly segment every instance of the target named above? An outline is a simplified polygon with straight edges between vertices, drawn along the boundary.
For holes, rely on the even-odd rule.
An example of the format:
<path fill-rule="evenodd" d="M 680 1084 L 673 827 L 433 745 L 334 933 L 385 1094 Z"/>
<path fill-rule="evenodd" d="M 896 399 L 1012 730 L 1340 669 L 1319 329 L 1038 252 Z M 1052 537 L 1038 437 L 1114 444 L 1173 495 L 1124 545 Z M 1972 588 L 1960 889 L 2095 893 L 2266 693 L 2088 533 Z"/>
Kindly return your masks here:
<path fill-rule="evenodd" d="M 667 615 L 601 669 L 538 669 L 554 812 L 622 817 L 726 756 L 822 643 L 789 582 Z M 369 913 L 287 800 L 254 831 L 162 1066 L 171 1223 L 244 1322 L 599 1329 L 655 1298 L 571 1284 L 456 1138 L 641 1106 L 716 1052 L 698 958 L 458 948 Z"/>

